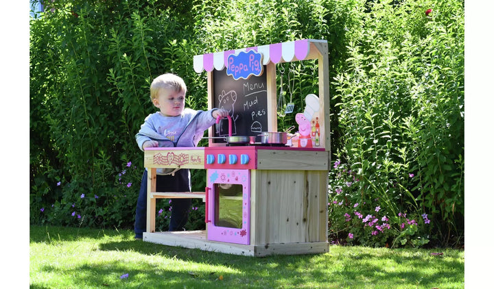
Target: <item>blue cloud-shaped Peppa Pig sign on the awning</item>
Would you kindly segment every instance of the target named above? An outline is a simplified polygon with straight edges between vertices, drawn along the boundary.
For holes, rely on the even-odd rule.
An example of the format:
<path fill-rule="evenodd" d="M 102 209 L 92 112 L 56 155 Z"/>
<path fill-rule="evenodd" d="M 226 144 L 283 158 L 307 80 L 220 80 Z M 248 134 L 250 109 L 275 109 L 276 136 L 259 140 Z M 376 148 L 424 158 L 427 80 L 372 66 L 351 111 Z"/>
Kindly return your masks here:
<path fill-rule="evenodd" d="M 233 76 L 233 79 L 248 79 L 250 75 L 259 76 L 263 73 L 261 62 L 262 54 L 254 50 L 248 52 L 241 51 L 238 55 L 228 56 L 228 66 L 226 74 Z"/>

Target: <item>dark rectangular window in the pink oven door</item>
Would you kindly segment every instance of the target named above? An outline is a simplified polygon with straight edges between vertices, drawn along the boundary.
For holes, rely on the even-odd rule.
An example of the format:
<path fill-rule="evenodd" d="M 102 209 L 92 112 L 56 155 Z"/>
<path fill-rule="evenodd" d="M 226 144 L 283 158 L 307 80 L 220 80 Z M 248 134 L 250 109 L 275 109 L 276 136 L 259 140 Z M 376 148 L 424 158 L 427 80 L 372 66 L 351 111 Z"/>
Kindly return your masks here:
<path fill-rule="evenodd" d="M 215 184 L 214 186 L 215 226 L 242 229 L 242 185 Z"/>

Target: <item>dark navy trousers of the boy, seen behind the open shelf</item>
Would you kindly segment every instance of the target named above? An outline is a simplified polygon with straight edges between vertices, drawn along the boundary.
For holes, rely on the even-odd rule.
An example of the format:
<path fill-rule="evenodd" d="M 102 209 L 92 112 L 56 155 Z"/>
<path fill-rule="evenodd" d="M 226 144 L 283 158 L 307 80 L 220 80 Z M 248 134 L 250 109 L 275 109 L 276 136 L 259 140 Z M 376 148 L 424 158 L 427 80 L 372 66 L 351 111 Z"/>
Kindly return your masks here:
<path fill-rule="evenodd" d="M 190 192 L 189 170 L 181 169 L 175 175 L 157 175 L 157 192 Z M 134 223 L 135 238 L 142 238 L 146 230 L 146 208 L 148 205 L 148 171 L 144 170 L 141 180 L 141 189 L 137 198 L 136 218 Z M 183 231 L 189 210 L 192 204 L 191 199 L 172 199 L 172 219 L 170 220 L 168 231 Z"/>

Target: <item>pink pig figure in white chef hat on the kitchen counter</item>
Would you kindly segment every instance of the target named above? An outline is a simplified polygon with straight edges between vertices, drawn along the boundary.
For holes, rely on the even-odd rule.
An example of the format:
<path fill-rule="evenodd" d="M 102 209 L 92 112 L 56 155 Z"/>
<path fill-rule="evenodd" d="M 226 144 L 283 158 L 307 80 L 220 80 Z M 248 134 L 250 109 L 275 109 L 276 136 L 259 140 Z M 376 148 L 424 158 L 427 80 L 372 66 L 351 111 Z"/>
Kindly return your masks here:
<path fill-rule="evenodd" d="M 305 97 L 305 110 L 295 116 L 298 123 L 298 147 L 312 147 L 311 140 L 311 120 L 316 112 L 319 111 L 319 97 L 314 94 Z"/>

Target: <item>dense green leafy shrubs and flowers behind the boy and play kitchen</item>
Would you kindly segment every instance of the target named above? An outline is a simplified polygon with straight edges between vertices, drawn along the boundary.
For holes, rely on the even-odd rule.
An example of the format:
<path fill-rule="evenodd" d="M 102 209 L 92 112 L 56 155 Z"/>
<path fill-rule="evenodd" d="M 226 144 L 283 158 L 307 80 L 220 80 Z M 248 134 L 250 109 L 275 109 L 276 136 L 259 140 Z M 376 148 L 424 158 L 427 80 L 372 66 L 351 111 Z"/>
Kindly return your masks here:
<path fill-rule="evenodd" d="M 47 1 L 30 21 L 30 224 L 131 228 L 150 81 L 182 76 L 204 109 L 193 55 L 303 38 L 329 44 L 331 242 L 461 247 L 463 1 Z M 296 108 L 314 65 L 292 67 Z"/>

